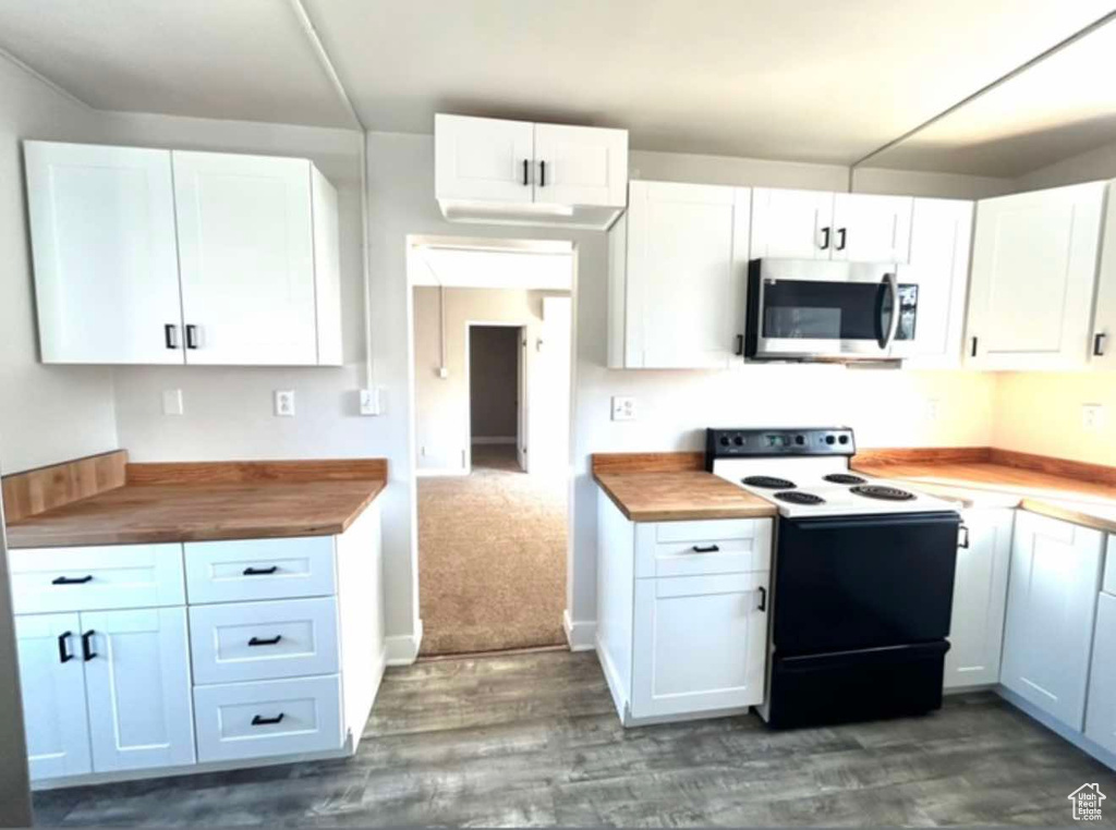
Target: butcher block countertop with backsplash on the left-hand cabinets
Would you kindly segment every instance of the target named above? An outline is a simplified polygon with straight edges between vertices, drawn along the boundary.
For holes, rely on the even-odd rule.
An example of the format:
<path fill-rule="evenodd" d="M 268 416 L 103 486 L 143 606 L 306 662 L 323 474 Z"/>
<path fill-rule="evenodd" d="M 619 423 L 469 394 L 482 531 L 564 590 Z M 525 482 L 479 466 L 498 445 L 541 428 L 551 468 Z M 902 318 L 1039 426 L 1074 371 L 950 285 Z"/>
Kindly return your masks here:
<path fill-rule="evenodd" d="M 99 469 L 75 472 L 81 464 Z M 106 453 L 7 476 L 4 500 L 13 509 L 8 544 L 334 535 L 376 499 L 386 479 L 387 464 L 378 459 L 128 464 L 123 451 Z"/>

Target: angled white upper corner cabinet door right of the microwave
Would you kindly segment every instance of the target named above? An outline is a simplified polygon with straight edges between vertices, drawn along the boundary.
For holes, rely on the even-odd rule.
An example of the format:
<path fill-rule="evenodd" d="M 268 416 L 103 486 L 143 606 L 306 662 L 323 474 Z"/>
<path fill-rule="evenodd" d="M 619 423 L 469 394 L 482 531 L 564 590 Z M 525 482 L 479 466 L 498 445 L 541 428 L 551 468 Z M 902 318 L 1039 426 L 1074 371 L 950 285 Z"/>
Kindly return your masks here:
<path fill-rule="evenodd" d="M 1085 364 L 1104 183 L 977 204 L 965 354 L 990 369 Z"/>

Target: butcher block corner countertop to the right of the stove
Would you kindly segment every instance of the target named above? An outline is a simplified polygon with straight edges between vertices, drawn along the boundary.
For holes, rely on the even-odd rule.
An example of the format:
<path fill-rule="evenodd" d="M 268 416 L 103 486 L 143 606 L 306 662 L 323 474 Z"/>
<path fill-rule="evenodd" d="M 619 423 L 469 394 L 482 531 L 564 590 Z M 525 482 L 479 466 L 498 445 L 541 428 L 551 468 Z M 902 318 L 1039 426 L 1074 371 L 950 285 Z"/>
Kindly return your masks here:
<path fill-rule="evenodd" d="M 906 482 L 961 506 L 1022 508 L 1116 533 L 1116 467 L 989 447 L 868 450 L 853 459 L 865 475 Z"/>

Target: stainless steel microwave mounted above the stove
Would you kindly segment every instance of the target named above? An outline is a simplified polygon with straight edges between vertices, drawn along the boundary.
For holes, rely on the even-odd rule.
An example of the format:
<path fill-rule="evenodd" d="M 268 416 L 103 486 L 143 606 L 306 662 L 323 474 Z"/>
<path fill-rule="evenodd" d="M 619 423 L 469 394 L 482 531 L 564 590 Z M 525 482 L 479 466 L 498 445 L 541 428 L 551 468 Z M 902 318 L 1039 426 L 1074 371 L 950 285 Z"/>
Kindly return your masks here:
<path fill-rule="evenodd" d="M 748 263 L 744 356 L 753 360 L 886 360 L 914 339 L 917 317 L 918 287 L 898 282 L 894 264 Z"/>

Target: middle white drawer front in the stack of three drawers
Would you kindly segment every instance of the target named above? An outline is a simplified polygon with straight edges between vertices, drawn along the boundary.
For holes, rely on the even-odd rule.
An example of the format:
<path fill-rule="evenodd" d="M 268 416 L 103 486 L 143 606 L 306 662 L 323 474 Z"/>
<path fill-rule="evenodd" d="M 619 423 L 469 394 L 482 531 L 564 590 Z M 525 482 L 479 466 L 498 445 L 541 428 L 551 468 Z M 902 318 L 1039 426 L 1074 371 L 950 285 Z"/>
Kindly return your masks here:
<path fill-rule="evenodd" d="M 335 674 L 337 600 L 191 606 L 190 652 L 198 685 Z"/>

